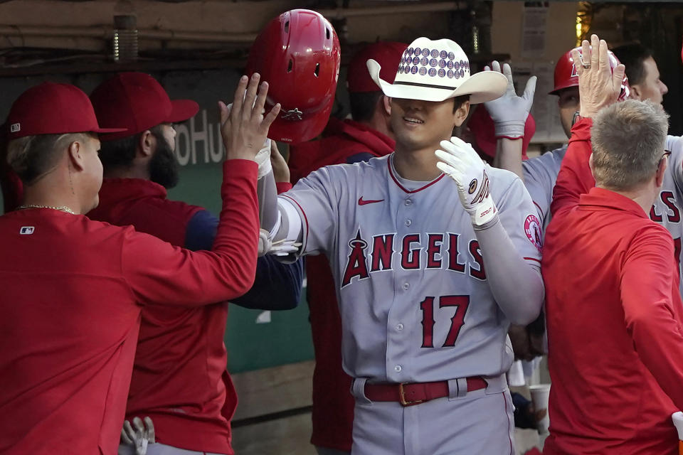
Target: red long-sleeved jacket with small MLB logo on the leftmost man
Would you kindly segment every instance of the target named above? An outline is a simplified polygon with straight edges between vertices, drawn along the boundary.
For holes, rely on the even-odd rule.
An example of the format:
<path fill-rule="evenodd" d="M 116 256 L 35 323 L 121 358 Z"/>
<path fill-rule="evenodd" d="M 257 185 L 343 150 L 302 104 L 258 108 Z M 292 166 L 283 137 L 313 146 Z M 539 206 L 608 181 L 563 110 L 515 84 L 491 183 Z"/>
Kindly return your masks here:
<path fill-rule="evenodd" d="M 0 217 L 0 453 L 117 454 L 140 305 L 251 287 L 257 166 L 230 163 L 213 252 L 58 210 Z"/>

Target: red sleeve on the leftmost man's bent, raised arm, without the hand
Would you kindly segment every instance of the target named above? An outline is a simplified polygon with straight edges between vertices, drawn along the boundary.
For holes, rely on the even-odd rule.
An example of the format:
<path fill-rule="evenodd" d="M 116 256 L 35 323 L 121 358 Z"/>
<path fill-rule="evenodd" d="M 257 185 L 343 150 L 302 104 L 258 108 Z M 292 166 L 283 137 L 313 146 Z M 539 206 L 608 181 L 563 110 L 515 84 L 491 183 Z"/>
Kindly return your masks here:
<path fill-rule="evenodd" d="M 258 250 L 257 166 L 223 164 L 223 209 L 212 251 L 181 250 L 130 230 L 122 245 L 122 276 L 141 304 L 196 306 L 231 300 L 254 282 Z"/>

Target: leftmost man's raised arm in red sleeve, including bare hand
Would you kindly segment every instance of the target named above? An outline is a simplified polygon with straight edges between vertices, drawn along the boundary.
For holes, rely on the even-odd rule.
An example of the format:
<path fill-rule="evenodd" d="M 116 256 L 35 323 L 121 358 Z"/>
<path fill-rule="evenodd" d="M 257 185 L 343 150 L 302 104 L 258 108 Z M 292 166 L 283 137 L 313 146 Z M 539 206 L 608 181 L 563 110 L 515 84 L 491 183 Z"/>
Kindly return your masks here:
<path fill-rule="evenodd" d="M 223 209 L 212 251 L 181 250 L 156 237 L 127 231 L 122 275 L 141 304 L 211 304 L 234 299 L 252 286 L 258 247 L 258 166 L 254 163 L 258 147 L 254 144 L 263 144 L 280 108 L 275 105 L 265 117 L 260 113 L 268 84 L 260 86 L 257 96 L 258 82 L 256 73 L 249 84 L 247 77 L 240 79 L 230 122 L 221 125 L 231 134 L 223 164 Z"/>

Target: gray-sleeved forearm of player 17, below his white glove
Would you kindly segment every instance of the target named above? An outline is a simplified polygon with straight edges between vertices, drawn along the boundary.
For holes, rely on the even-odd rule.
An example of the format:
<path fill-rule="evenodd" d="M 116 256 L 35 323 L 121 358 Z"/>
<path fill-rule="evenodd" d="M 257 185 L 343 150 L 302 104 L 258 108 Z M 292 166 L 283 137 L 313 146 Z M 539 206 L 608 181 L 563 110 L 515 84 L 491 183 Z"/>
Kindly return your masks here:
<path fill-rule="evenodd" d="M 485 229 L 475 228 L 475 234 L 486 279 L 503 314 L 514 324 L 531 323 L 539 316 L 544 299 L 541 272 L 519 255 L 500 220 Z"/>

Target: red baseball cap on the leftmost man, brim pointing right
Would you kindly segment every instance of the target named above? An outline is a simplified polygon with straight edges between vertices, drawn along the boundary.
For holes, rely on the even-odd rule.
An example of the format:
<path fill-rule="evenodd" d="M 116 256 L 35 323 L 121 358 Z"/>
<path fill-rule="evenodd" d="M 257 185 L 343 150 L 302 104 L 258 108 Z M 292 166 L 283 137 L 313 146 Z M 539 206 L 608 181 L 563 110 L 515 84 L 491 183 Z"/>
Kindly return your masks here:
<path fill-rule="evenodd" d="M 54 82 L 43 82 L 19 95 L 5 125 L 9 140 L 37 134 L 125 131 L 100 128 L 88 95 L 75 85 Z"/>

